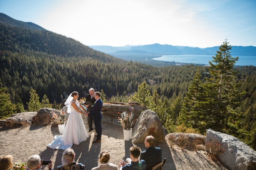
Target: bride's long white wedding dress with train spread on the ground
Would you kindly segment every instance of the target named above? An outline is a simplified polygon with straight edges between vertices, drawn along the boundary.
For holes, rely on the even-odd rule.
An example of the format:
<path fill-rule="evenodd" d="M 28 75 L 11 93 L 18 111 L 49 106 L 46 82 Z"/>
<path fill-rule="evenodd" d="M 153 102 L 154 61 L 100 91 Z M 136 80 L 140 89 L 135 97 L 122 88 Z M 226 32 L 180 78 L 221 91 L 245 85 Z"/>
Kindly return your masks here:
<path fill-rule="evenodd" d="M 78 102 L 78 100 L 76 101 Z M 80 104 L 78 104 L 79 102 L 77 102 L 75 103 L 76 106 L 79 108 Z M 80 144 L 81 142 L 86 141 L 89 137 L 81 114 L 72 107 L 71 103 L 70 115 L 68 117 L 68 121 L 63 134 L 54 136 L 52 143 L 48 144 L 48 147 L 52 149 L 56 148 L 65 150 L 72 147 L 73 144 Z"/>

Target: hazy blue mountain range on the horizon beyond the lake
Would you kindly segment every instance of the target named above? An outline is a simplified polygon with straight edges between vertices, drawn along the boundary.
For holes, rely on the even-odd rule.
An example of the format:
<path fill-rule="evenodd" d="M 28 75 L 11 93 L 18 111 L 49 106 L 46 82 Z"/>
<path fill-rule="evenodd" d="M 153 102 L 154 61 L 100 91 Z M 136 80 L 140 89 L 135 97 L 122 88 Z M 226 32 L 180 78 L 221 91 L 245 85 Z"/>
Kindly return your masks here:
<path fill-rule="evenodd" d="M 216 51 L 219 51 L 220 46 L 198 48 L 188 46 L 172 46 L 172 45 L 161 45 L 161 44 L 150 44 L 150 45 L 139 45 L 139 46 L 123 46 L 123 47 L 112 47 L 112 46 L 89 46 L 95 50 L 105 52 L 111 55 L 215 55 Z M 233 46 L 230 50 L 231 55 L 235 56 L 256 56 L 256 47 L 254 46 Z"/>

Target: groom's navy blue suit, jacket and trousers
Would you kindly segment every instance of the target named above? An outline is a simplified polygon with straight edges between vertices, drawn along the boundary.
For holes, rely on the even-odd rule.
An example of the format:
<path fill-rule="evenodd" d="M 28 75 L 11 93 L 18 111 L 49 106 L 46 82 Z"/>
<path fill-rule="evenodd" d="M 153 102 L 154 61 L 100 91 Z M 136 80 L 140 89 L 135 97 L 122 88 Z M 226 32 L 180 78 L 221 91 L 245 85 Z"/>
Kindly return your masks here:
<path fill-rule="evenodd" d="M 92 111 L 88 114 L 88 116 L 92 116 L 92 120 L 95 125 L 95 130 L 97 132 L 97 139 L 96 140 L 101 140 L 101 133 L 102 133 L 102 128 L 101 128 L 101 108 L 102 108 L 103 102 L 101 99 L 97 100 L 95 104 L 92 107 Z"/>

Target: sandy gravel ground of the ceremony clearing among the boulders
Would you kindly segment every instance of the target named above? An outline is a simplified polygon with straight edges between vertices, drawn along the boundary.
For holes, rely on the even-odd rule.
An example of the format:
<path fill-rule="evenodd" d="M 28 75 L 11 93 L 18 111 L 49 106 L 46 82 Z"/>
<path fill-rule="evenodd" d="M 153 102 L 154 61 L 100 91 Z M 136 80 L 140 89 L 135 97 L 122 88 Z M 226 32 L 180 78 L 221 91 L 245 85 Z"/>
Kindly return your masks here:
<path fill-rule="evenodd" d="M 85 118 L 84 118 L 85 119 Z M 104 116 L 103 116 L 104 120 Z M 86 122 L 86 121 L 84 121 Z M 80 143 L 73 145 L 72 148 L 76 153 L 75 161 L 85 165 L 86 170 L 91 170 L 99 165 L 98 156 L 103 150 L 110 153 L 111 163 L 119 167 L 120 160 L 125 160 L 130 156 L 129 148 L 135 144 L 130 141 L 124 141 L 123 129 L 111 121 L 102 121 L 102 140 L 101 143 L 92 144 L 95 140 L 95 130 L 89 132 L 89 138 Z M 85 123 L 86 129 L 88 125 Z M 36 125 L 28 126 L 16 125 L 11 128 L 7 126 L 0 127 L 0 155 L 11 154 L 13 161 L 27 162 L 28 158 L 34 154 L 40 155 L 43 160 L 53 160 L 53 169 L 61 165 L 61 157 L 64 150 L 51 149 L 47 147 L 51 143 L 54 135 L 59 135 L 58 126 Z M 147 148 L 144 143 L 137 144 L 142 151 Z M 213 170 L 229 169 L 219 161 L 212 161 L 206 152 L 195 152 L 188 150 L 180 150 L 178 146 L 174 146 L 172 150 L 168 142 L 157 145 L 162 149 L 162 158 L 166 158 L 164 170 Z M 42 170 L 48 170 L 47 166 L 41 166 Z"/>

